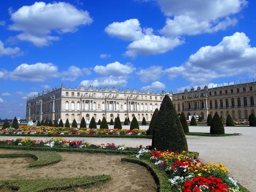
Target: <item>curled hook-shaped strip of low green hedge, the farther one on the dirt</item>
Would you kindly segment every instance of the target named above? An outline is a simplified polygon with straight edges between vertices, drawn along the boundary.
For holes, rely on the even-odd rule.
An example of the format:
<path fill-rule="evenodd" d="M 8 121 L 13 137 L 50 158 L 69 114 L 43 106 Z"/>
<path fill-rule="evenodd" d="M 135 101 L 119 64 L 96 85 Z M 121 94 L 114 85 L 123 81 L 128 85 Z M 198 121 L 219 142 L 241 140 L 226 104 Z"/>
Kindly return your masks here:
<path fill-rule="evenodd" d="M 0 158 L 18 158 L 30 157 L 35 159 L 33 163 L 29 163 L 27 167 L 41 167 L 51 165 L 61 161 L 61 155 L 51 151 L 28 151 L 28 153 L 12 153 L 0 154 Z"/>

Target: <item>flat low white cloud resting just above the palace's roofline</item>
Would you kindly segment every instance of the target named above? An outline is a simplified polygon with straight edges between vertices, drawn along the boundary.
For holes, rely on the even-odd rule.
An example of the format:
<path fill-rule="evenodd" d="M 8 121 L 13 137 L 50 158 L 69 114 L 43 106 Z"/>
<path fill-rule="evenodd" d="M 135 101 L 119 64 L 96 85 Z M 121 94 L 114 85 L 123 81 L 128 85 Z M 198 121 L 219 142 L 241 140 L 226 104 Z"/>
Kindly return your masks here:
<path fill-rule="evenodd" d="M 127 84 L 127 81 L 124 77 L 119 76 L 119 77 L 114 77 L 114 76 L 109 76 L 109 77 L 100 77 L 97 79 L 93 80 L 84 80 L 80 83 L 80 85 L 84 85 L 85 87 L 87 86 L 94 86 L 94 87 L 104 87 L 104 86 L 125 86 Z"/>

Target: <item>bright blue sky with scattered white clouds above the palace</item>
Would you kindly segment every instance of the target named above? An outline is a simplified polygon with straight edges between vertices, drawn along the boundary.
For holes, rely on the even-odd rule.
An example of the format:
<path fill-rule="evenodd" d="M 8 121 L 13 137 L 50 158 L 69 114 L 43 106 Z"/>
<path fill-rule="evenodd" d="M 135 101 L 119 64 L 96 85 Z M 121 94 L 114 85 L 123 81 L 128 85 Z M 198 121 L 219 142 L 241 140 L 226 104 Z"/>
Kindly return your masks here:
<path fill-rule="evenodd" d="M 220 3 L 221 2 L 221 3 Z M 4 1 L 0 118 L 52 87 L 180 92 L 252 81 L 255 1 Z"/>

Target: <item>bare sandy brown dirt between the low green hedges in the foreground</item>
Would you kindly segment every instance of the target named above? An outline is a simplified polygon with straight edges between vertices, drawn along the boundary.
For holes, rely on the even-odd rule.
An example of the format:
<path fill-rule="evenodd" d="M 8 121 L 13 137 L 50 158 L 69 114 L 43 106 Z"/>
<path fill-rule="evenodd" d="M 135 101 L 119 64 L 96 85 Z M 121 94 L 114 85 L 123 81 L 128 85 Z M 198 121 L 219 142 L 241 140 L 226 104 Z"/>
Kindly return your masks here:
<path fill-rule="evenodd" d="M 0 149 L 0 154 L 18 150 Z M 22 151 L 24 152 L 24 151 Z M 62 161 L 39 168 L 28 169 L 31 158 L 0 158 L 0 180 L 67 178 L 79 175 L 111 176 L 111 180 L 92 188 L 78 188 L 75 191 L 156 191 L 156 184 L 151 174 L 137 164 L 121 162 L 122 155 L 59 153 Z M 7 190 L 0 190 L 0 192 Z M 10 190 L 9 190 L 10 191 Z"/>

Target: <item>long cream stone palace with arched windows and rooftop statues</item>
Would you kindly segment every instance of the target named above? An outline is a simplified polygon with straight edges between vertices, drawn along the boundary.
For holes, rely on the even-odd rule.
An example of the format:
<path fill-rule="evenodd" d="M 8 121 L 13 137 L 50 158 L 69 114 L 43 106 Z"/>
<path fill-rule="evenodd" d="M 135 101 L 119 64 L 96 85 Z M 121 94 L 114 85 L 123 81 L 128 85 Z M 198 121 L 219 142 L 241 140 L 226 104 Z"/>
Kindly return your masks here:
<path fill-rule="evenodd" d="M 102 117 L 106 117 L 109 122 L 111 118 L 119 116 L 121 121 L 126 117 L 130 119 L 135 116 L 138 121 L 143 117 L 146 121 L 151 120 L 151 116 L 156 108 L 160 108 L 163 97 L 168 94 L 172 99 L 177 113 L 184 111 L 187 118 L 191 115 L 207 118 L 217 112 L 223 119 L 228 114 L 234 119 L 248 118 L 255 112 L 256 105 L 256 82 L 233 84 L 204 89 L 197 87 L 190 91 L 187 89 L 182 93 L 154 93 L 141 92 L 133 89 L 117 91 L 115 87 L 111 90 L 105 87 L 104 90 L 93 89 L 89 86 L 85 89 L 66 88 L 61 85 L 52 91 L 35 95 L 27 100 L 26 120 L 42 121 L 59 120 L 68 118 L 69 121 L 76 119 L 79 123 L 84 117 L 90 120 L 92 117 L 98 122 Z"/>

